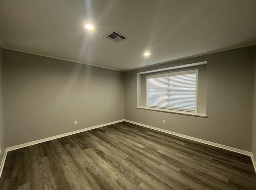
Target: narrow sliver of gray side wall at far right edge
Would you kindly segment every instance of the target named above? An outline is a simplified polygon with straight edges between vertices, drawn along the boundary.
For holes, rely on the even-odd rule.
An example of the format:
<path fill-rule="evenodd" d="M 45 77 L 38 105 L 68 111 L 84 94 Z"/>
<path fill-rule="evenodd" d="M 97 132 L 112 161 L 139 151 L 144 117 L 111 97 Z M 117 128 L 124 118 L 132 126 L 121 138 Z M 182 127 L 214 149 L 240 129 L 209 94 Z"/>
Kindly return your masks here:
<path fill-rule="evenodd" d="M 256 52 L 254 52 L 256 54 Z M 256 158 L 256 58 L 254 60 L 254 94 L 253 94 L 253 116 L 252 116 L 252 154 Z"/>

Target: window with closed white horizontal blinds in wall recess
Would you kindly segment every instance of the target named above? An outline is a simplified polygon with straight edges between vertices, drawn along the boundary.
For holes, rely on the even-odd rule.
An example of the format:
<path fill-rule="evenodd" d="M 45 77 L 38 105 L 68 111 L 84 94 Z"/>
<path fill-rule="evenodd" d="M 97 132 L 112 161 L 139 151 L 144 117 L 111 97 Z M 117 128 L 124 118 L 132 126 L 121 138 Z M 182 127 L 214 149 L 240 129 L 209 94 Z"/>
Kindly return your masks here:
<path fill-rule="evenodd" d="M 198 70 L 146 77 L 147 106 L 197 113 Z"/>

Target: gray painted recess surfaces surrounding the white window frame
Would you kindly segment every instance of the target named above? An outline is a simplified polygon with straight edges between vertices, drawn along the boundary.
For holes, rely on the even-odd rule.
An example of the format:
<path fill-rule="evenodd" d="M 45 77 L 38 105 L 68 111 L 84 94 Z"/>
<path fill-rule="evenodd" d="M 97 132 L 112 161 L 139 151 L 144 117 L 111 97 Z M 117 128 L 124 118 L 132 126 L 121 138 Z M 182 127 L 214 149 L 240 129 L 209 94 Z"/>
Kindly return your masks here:
<path fill-rule="evenodd" d="M 207 90 L 207 64 L 193 66 L 189 68 L 174 69 L 169 71 L 141 74 L 137 75 L 137 85 L 140 85 L 140 93 L 137 93 L 137 98 L 140 98 L 140 105 L 137 106 L 146 106 L 146 76 L 154 74 L 164 74 L 170 72 L 180 72 L 185 70 L 198 70 L 198 113 L 206 113 L 206 90 Z M 138 81 L 138 78 L 139 81 Z M 139 84 L 140 83 L 140 84 Z"/>

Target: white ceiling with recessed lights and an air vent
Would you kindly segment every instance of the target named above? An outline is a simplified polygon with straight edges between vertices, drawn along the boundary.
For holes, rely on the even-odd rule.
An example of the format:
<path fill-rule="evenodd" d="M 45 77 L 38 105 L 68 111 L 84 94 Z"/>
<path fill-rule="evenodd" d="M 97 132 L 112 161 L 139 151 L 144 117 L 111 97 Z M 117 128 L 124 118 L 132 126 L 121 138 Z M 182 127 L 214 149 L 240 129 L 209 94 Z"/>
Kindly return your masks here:
<path fill-rule="evenodd" d="M 130 70 L 256 44 L 256 0 L 0 0 L 0 44 Z"/>

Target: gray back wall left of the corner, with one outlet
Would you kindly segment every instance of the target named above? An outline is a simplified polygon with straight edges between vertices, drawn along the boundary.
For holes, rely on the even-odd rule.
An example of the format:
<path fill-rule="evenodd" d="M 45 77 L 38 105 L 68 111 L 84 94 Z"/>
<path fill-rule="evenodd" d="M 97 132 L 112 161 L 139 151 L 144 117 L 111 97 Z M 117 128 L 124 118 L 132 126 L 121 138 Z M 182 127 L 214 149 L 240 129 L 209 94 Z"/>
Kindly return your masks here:
<path fill-rule="evenodd" d="M 7 147 L 124 118 L 119 71 L 4 49 L 2 82 Z"/>

